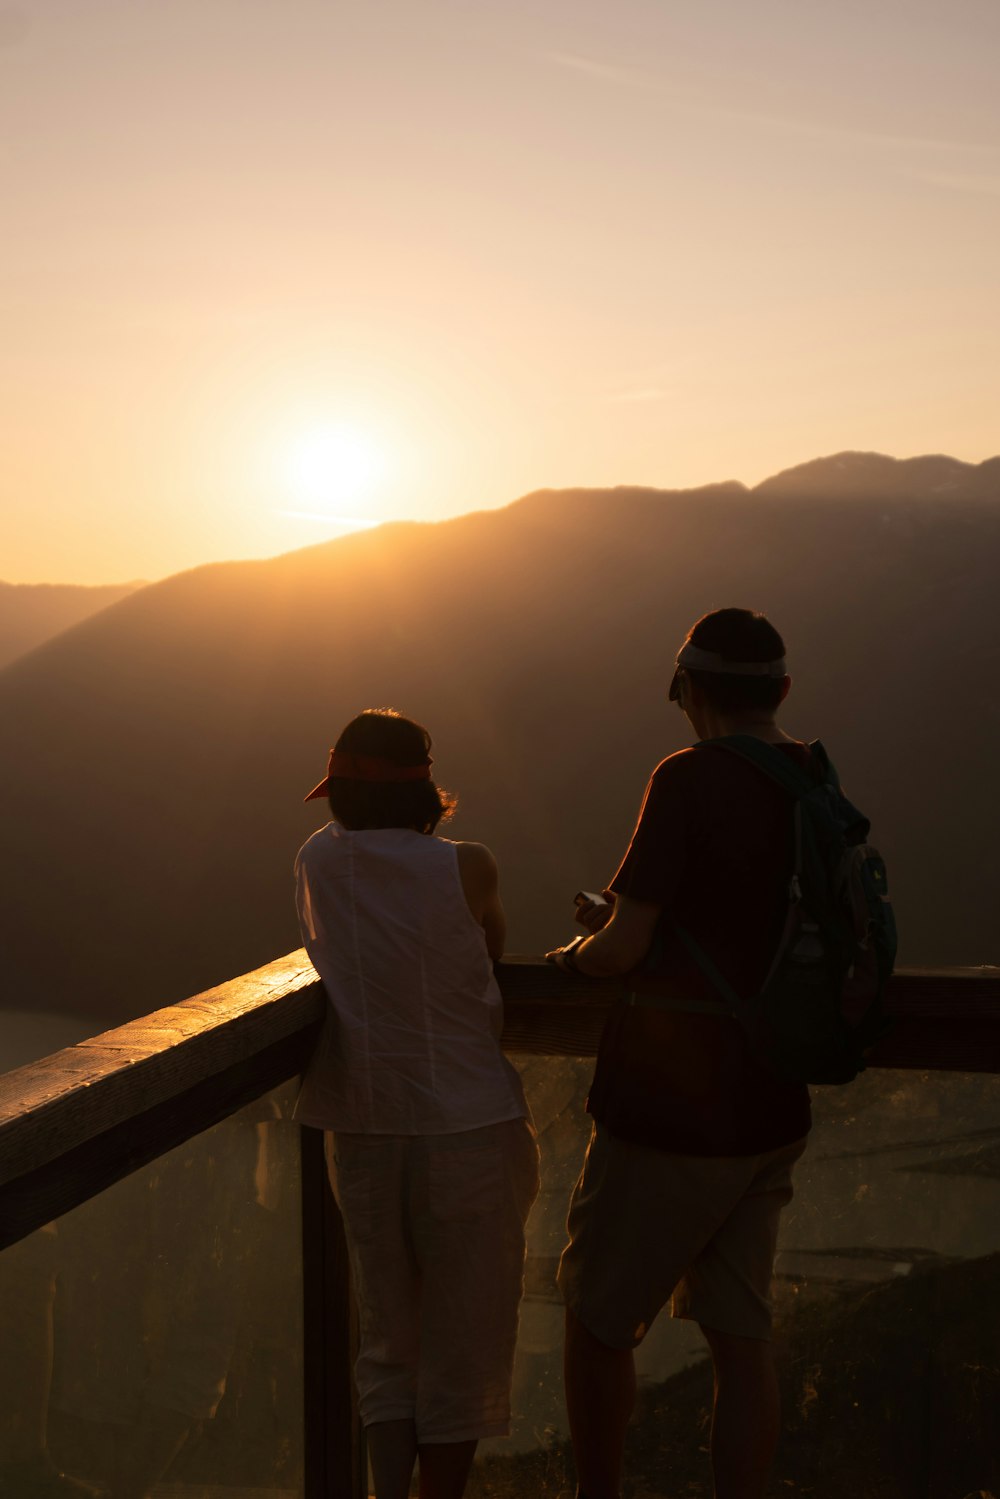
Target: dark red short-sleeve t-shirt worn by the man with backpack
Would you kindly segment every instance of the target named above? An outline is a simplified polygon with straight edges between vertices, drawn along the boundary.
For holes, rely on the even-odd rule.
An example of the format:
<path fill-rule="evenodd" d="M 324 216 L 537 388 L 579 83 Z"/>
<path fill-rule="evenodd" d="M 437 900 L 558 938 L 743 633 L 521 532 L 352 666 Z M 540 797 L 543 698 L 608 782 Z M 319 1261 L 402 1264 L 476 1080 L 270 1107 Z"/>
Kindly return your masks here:
<path fill-rule="evenodd" d="M 808 745 L 783 745 L 808 767 Z M 781 937 L 792 874 L 792 800 L 754 764 L 711 744 L 652 773 L 616 895 L 661 907 L 639 1003 L 622 1004 L 601 1039 L 589 1112 L 624 1139 L 694 1156 L 778 1150 L 810 1129 L 808 1090 L 750 1054 L 736 1019 L 676 935 L 682 925 L 739 995 L 753 995 Z M 717 1003 L 687 1013 L 642 1000 Z"/>

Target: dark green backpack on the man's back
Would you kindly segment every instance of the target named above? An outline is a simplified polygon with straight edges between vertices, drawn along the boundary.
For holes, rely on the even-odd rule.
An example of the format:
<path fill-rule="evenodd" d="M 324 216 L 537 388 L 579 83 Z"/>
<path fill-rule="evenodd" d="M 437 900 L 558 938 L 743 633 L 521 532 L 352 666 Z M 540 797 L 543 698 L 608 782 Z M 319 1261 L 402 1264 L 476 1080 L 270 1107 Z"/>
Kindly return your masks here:
<path fill-rule="evenodd" d="M 819 778 L 751 735 L 702 742 L 750 760 L 792 796 L 789 907 L 768 977 L 748 1000 L 688 931 L 675 923 L 675 932 L 778 1078 L 850 1082 L 889 1028 L 882 1000 L 897 953 L 886 866 L 867 842 L 871 823 L 844 796 L 819 739 L 810 745 Z"/>

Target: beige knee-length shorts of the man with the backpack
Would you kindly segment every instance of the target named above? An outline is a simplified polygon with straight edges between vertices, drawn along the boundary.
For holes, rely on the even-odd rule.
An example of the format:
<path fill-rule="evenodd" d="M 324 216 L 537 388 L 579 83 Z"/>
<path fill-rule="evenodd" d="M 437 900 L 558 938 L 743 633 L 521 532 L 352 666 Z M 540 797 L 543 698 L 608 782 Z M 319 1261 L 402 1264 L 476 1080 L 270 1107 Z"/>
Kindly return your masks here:
<path fill-rule="evenodd" d="M 672 1156 L 597 1124 L 570 1204 L 559 1288 L 609 1348 L 673 1316 L 771 1337 L 778 1217 L 805 1141 L 763 1156 Z"/>

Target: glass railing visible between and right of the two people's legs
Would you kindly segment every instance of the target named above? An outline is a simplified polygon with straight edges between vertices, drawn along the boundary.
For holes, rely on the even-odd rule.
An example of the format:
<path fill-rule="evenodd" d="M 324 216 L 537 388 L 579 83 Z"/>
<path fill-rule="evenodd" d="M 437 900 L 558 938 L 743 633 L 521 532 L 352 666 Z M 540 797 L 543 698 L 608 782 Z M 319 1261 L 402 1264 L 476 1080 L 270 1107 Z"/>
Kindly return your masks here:
<path fill-rule="evenodd" d="M 508 1439 L 469 1493 L 561 1499 L 573 1469 L 555 1267 L 594 1063 L 522 1060 L 541 1144 Z M 1000 1496 L 1000 1079 L 873 1070 L 814 1090 L 781 1222 L 775 1355 L 784 1430 L 771 1493 Z M 636 1358 L 627 1487 L 711 1499 L 712 1381 L 697 1327 L 663 1313 Z"/>

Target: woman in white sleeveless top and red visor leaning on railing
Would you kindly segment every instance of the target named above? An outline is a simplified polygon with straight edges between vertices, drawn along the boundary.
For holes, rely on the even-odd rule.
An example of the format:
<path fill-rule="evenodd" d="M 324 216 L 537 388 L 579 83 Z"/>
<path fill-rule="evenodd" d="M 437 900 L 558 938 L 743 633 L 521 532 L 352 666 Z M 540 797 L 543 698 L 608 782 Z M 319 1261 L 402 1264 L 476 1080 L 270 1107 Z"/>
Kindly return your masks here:
<path fill-rule="evenodd" d="M 327 1019 L 295 1106 L 327 1132 L 360 1318 L 355 1363 L 376 1499 L 460 1499 L 475 1445 L 510 1432 L 525 1222 L 538 1148 L 499 1045 L 505 922 L 483 844 L 436 836 L 454 799 L 430 736 L 351 720 L 333 821 L 295 859 Z"/>

